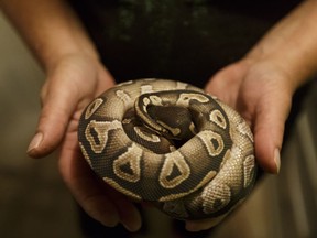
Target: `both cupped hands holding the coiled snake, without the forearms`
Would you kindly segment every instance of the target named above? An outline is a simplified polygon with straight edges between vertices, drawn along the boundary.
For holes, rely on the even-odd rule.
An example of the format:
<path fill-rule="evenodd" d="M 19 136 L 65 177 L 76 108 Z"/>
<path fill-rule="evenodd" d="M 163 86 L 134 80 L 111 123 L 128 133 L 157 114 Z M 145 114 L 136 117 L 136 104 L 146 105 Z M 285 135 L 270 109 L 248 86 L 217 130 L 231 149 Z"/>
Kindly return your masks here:
<path fill-rule="evenodd" d="M 128 230 L 136 231 L 142 224 L 138 208 L 94 174 L 77 140 L 84 108 L 113 85 L 101 63 L 87 55 L 67 55 L 57 62 L 48 69 L 41 91 L 42 111 L 28 154 L 42 158 L 58 148 L 62 176 L 86 213 L 105 226 L 121 223 Z M 258 163 L 264 171 L 278 173 L 284 123 L 294 91 L 287 75 L 270 62 L 244 58 L 212 76 L 206 91 L 242 115 L 254 133 Z M 211 226 L 208 219 L 186 221 L 189 231 Z"/>

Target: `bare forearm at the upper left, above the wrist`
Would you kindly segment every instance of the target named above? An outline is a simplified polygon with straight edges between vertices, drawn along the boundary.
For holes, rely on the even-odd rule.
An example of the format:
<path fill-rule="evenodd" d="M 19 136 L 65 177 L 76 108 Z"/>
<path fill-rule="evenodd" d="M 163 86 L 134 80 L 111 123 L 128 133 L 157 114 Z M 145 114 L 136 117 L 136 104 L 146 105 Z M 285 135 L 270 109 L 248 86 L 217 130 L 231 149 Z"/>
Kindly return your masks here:
<path fill-rule="evenodd" d="M 69 54 L 98 57 L 65 0 L 0 0 L 0 4 L 45 69 Z"/>

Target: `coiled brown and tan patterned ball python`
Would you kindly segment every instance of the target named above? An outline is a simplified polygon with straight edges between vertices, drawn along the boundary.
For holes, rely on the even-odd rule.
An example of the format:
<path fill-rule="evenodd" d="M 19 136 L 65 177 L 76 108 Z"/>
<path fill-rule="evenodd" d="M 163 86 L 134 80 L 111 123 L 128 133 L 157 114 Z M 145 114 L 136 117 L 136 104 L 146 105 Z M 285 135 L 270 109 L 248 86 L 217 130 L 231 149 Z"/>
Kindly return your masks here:
<path fill-rule="evenodd" d="M 251 192 L 253 136 L 242 117 L 182 82 L 138 79 L 81 115 L 81 152 L 110 186 L 178 219 L 222 219 Z"/>

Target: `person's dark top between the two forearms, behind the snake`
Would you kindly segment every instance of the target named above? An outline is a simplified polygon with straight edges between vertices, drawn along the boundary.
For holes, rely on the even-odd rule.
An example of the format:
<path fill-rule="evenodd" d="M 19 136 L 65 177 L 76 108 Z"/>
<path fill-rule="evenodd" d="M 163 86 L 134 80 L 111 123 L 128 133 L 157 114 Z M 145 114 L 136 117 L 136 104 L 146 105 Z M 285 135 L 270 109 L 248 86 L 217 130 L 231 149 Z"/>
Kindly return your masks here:
<path fill-rule="evenodd" d="M 156 77 L 204 87 L 298 0 L 73 0 L 117 82 Z"/>

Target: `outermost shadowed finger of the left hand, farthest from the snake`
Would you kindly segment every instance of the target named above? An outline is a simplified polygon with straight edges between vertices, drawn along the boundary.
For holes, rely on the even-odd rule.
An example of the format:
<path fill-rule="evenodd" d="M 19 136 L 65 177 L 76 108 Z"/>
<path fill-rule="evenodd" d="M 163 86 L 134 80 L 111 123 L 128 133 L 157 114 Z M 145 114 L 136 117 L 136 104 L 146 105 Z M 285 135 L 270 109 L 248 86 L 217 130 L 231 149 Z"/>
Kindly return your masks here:
<path fill-rule="evenodd" d="M 85 159 L 74 147 L 67 145 L 74 142 L 76 133 L 64 142 L 59 158 L 62 176 L 83 209 L 94 219 L 107 227 L 113 227 L 119 223 L 119 213 L 116 204 L 109 197 L 106 183 L 91 171 Z"/>

